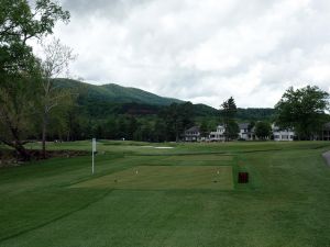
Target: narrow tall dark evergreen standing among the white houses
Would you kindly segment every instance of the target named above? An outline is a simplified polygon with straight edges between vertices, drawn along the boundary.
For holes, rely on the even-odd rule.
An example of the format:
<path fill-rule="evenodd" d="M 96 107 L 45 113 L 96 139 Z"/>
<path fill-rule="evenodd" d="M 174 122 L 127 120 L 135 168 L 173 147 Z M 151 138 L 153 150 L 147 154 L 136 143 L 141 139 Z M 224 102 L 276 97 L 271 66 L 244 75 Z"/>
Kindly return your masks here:
<path fill-rule="evenodd" d="M 234 99 L 231 97 L 221 104 L 220 114 L 226 128 L 226 141 L 234 139 L 238 137 L 239 125 L 235 122 L 238 108 Z"/>

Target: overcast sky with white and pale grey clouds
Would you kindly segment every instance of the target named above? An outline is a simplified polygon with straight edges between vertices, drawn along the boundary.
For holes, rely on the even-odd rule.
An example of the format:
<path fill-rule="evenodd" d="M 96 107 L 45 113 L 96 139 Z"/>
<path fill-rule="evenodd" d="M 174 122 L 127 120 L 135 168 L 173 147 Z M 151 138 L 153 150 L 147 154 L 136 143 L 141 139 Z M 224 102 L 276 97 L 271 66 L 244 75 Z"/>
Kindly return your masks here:
<path fill-rule="evenodd" d="M 289 87 L 330 92 L 329 0 L 62 0 L 72 75 L 215 108 L 274 106 Z"/>

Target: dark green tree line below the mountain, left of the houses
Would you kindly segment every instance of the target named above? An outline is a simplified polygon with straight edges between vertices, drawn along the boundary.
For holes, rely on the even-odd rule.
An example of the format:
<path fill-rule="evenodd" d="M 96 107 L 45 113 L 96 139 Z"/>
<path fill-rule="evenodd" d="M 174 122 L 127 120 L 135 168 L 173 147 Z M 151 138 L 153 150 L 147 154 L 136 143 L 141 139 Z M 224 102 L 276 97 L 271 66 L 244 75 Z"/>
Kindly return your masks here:
<path fill-rule="evenodd" d="M 91 137 L 145 142 L 179 141 L 184 131 L 195 124 L 193 104 L 172 103 L 156 115 L 114 114 L 102 119 L 81 114 L 79 106 L 54 112 L 50 121 L 50 139 L 78 141 Z M 63 117 L 64 116 L 64 117 Z M 30 136 L 40 138 L 38 136 Z"/>

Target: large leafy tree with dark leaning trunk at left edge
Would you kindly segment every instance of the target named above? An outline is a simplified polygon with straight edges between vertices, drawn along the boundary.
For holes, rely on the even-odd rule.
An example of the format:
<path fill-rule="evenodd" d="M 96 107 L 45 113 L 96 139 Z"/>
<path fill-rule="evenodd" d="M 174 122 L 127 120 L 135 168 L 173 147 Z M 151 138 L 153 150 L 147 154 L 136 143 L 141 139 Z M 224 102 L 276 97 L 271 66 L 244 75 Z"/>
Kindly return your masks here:
<path fill-rule="evenodd" d="M 28 0 L 1 0 L 0 122 L 2 130 L 12 130 L 7 136 L 12 139 L 2 142 L 11 144 L 24 159 L 29 159 L 29 154 L 22 145 L 22 136 L 18 133 L 24 133 L 28 115 L 31 115 L 31 108 L 28 105 L 32 105 L 35 96 L 31 93 L 34 89 L 31 81 L 38 68 L 38 61 L 28 41 L 52 34 L 59 20 L 67 22 L 69 13 L 50 0 L 37 0 L 34 9 Z M 20 105 L 20 109 L 15 105 Z"/>

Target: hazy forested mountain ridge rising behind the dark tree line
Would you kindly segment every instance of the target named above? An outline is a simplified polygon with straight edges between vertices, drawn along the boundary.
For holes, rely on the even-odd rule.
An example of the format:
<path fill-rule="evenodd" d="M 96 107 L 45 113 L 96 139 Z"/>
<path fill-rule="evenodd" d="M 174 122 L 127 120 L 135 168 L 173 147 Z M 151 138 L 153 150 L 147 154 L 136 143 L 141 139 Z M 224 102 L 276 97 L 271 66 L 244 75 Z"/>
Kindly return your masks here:
<path fill-rule="evenodd" d="M 105 119 L 113 114 L 154 115 L 172 103 L 184 103 L 136 88 L 114 83 L 96 86 L 70 79 L 56 79 L 56 86 L 70 89 L 77 97 L 80 112 L 91 117 Z M 200 117 L 218 117 L 219 110 L 206 104 L 194 104 L 193 114 Z M 239 121 L 271 120 L 274 109 L 238 109 Z"/>

